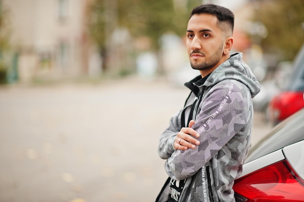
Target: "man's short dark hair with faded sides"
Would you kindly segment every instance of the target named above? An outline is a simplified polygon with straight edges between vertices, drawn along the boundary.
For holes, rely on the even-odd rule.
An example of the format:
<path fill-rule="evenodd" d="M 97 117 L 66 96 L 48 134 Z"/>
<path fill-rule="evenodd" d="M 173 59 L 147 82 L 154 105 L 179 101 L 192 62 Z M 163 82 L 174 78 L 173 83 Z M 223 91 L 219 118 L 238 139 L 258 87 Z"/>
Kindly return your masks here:
<path fill-rule="evenodd" d="M 215 4 L 202 4 L 192 10 L 189 19 L 195 14 L 210 14 L 216 16 L 218 18 L 219 27 L 223 31 L 228 31 L 227 29 L 230 29 L 231 33 L 233 33 L 235 16 L 228 8 Z"/>

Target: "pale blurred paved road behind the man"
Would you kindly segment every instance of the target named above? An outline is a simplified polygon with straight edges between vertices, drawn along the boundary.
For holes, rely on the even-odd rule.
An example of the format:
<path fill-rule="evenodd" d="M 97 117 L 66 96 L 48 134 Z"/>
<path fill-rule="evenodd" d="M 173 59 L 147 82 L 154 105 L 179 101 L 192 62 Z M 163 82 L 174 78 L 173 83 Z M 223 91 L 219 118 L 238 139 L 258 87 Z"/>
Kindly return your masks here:
<path fill-rule="evenodd" d="M 153 202 L 160 133 L 187 96 L 157 79 L 0 88 L 0 202 Z M 255 114 L 253 144 L 270 129 Z"/>

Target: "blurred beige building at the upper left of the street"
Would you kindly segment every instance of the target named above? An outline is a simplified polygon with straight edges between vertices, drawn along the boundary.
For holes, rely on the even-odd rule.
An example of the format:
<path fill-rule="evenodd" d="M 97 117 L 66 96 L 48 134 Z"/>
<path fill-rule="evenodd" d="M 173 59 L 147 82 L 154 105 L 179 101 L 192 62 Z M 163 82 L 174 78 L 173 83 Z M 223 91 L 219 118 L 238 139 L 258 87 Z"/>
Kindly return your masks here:
<path fill-rule="evenodd" d="M 86 30 L 89 0 L 2 0 L 9 10 L 18 77 L 71 78 L 88 72 Z"/>

